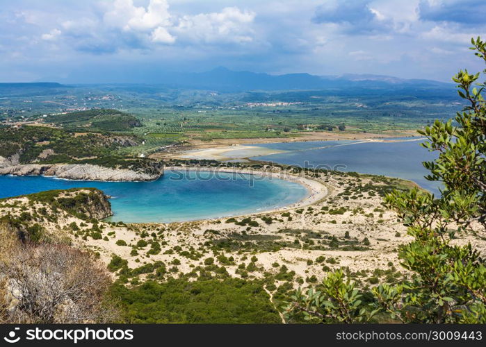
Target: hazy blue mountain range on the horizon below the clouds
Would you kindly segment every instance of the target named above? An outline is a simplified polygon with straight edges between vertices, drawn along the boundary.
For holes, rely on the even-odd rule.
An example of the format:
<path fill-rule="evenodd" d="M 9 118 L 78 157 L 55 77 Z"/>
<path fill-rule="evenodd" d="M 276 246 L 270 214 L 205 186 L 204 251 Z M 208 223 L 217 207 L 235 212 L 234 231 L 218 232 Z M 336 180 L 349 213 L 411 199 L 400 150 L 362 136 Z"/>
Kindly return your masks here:
<path fill-rule="evenodd" d="M 120 83 L 123 81 L 120 76 Z M 70 81 L 72 78 L 70 78 Z M 451 83 L 438 81 L 405 79 L 391 76 L 370 74 L 343 74 L 341 76 L 315 76 L 311 74 L 270 75 L 250 71 L 232 71 L 225 67 L 218 67 L 202 73 L 191 72 L 154 72 L 143 78 L 145 85 L 163 85 L 165 87 L 215 90 L 218 92 L 245 92 L 255 90 L 346 90 L 346 89 L 387 89 L 400 90 L 402 88 L 451 88 Z M 85 81 L 79 81 L 83 83 Z M 86 81 L 87 82 L 87 81 Z M 71 83 L 69 83 L 71 84 Z M 94 84 L 94 83 L 90 83 Z M 113 83 L 109 83 L 113 84 Z M 131 85 L 137 83 L 129 83 Z M 62 87 L 58 83 L 0 83 L 0 91 L 4 87 Z"/>

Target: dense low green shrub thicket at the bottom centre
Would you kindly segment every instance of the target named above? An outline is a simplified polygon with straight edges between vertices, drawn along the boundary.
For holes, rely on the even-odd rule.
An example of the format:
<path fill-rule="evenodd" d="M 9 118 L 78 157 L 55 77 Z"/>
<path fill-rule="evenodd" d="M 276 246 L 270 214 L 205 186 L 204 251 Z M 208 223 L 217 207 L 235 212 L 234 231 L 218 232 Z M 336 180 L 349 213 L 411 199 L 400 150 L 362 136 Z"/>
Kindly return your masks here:
<path fill-rule="evenodd" d="M 115 285 L 127 323 L 279 323 L 261 283 L 236 278 Z"/>

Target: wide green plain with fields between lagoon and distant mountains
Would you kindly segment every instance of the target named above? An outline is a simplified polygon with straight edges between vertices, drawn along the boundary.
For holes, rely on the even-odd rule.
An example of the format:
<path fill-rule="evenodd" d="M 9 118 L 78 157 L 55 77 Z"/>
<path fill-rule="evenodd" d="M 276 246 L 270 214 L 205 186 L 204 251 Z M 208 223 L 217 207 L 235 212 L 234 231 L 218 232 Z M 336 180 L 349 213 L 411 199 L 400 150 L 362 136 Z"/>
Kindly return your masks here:
<path fill-rule="evenodd" d="M 434 119 L 448 119 L 462 107 L 453 86 L 446 84 L 435 89 L 416 84 L 226 93 L 152 85 L 3 85 L 0 96 L 3 124 L 40 120 L 68 131 L 124 133 L 140 139 L 136 146 L 121 149 L 122 155 L 152 153 L 191 140 L 286 139 L 316 132 L 403 135 Z M 97 121 L 83 120 L 83 112 L 57 115 L 92 108 L 118 111 L 112 112 L 111 121 L 106 119 L 109 112 Z M 66 122 L 74 116 L 81 120 Z"/>

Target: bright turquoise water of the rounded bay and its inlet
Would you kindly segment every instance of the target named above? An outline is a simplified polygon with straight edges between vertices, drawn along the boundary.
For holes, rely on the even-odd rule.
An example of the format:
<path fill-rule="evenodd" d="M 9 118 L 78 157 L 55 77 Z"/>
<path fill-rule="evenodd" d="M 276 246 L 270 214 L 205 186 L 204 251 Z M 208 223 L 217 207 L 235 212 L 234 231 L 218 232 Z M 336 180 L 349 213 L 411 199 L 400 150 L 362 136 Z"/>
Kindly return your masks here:
<path fill-rule="evenodd" d="M 40 176 L 0 176 L 0 198 L 50 189 L 95 187 L 112 196 L 112 221 L 191 221 L 234 216 L 291 205 L 307 190 L 276 178 L 207 171 L 166 171 L 153 182 L 92 182 Z"/>

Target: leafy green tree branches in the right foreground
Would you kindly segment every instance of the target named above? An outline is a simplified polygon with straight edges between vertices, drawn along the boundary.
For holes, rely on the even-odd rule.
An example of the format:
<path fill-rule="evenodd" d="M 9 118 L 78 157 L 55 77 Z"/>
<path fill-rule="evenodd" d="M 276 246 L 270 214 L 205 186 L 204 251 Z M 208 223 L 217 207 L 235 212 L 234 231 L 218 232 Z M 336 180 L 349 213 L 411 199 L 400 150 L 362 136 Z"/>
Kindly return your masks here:
<path fill-rule="evenodd" d="M 486 43 L 471 40 L 476 56 L 486 62 Z M 485 70 L 486 73 L 486 70 Z M 412 280 L 396 286 L 372 289 L 374 301 L 362 305 L 353 283 L 342 273 L 330 273 L 323 291 L 300 291 L 287 307 L 287 314 L 304 312 L 307 319 L 323 322 L 365 321 L 378 312 L 403 323 L 486 323 L 486 264 L 471 244 L 451 244 L 457 232 L 486 229 L 486 103 L 479 74 L 459 71 L 453 81 L 468 102 L 457 112 L 455 124 L 435 121 L 420 131 L 423 144 L 439 158 L 424 162 L 428 180 L 444 184 L 442 196 L 428 192 L 394 191 L 385 202 L 398 212 L 414 241 L 402 246 L 399 257 Z"/>

